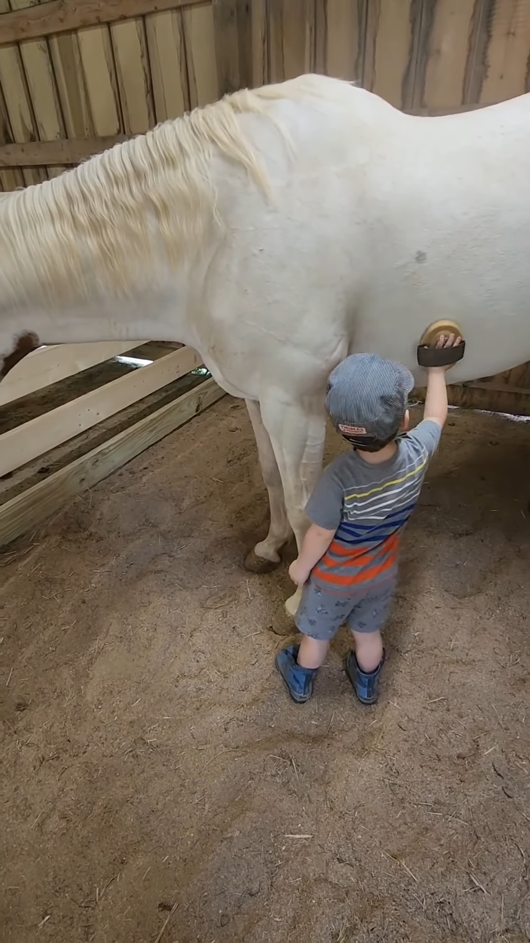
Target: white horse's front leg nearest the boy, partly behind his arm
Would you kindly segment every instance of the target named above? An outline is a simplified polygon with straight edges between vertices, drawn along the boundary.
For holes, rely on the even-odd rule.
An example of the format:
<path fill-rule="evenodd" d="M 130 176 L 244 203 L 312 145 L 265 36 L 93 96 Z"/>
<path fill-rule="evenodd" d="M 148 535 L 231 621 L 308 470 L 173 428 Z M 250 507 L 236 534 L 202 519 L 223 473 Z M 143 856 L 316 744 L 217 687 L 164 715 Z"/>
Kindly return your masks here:
<path fill-rule="evenodd" d="M 261 419 L 273 446 L 280 472 L 287 515 L 300 551 L 309 521 L 307 500 L 322 472 L 325 412 L 322 398 L 301 405 L 274 397 L 260 402 Z M 286 601 L 285 612 L 276 613 L 273 629 L 278 635 L 292 632 L 292 617 L 300 603 L 298 588 Z M 289 617 L 286 619 L 286 615 Z"/>

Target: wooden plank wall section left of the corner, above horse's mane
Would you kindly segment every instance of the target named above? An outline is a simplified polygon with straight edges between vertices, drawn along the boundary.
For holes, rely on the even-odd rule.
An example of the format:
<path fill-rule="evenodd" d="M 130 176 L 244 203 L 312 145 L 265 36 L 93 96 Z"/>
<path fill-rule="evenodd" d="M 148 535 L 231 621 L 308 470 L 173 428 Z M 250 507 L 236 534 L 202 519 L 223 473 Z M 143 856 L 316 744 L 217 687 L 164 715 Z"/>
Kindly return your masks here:
<path fill-rule="evenodd" d="M 49 32 L 63 25 L 59 17 L 66 10 L 67 19 L 69 7 L 84 14 L 86 28 Z M 36 8 L 48 19 L 18 19 Z M 136 9 L 143 15 L 129 14 Z M 89 25 L 106 17 L 107 23 Z M 213 23 L 213 5 L 197 0 L 0 0 L 2 188 L 59 174 L 121 136 L 215 101 Z M 8 41 L 26 35 L 28 25 L 47 35 Z"/>

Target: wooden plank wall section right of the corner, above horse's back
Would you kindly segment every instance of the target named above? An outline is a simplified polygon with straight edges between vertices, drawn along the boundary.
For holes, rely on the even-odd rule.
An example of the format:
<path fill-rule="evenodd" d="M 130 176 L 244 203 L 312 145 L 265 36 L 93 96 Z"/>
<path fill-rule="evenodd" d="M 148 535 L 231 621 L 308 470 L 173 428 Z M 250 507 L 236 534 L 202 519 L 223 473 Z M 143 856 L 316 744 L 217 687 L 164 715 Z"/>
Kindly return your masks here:
<path fill-rule="evenodd" d="M 244 6 L 244 5 L 243 5 Z M 355 79 L 439 114 L 529 91 L 528 0 L 254 0 L 252 77 Z"/>

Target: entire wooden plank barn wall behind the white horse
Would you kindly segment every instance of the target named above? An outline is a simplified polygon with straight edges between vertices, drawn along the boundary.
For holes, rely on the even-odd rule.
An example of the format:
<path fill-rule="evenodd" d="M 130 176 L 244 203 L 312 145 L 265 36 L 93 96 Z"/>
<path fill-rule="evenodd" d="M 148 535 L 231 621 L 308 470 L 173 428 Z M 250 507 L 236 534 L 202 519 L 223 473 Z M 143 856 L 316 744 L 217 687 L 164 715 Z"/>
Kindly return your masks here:
<path fill-rule="evenodd" d="M 530 90 L 530 0 L 0 0 L 0 190 L 307 71 L 420 114 L 499 102 Z"/>

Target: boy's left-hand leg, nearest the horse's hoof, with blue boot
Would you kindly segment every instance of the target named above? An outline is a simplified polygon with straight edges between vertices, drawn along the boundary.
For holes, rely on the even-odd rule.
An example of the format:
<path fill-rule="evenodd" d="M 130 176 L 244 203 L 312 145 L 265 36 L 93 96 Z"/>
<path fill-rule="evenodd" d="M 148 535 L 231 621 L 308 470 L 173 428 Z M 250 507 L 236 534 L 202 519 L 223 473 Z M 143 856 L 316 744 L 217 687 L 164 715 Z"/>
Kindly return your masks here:
<path fill-rule="evenodd" d="M 276 668 L 296 703 L 306 703 L 311 697 L 316 673 L 345 620 L 347 605 L 348 601 L 338 605 L 335 597 L 311 579 L 306 583 L 295 617 L 302 642 L 288 645 L 276 655 Z"/>

